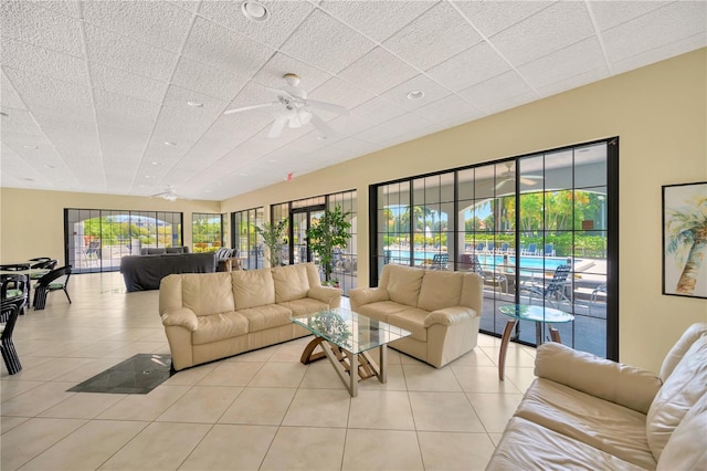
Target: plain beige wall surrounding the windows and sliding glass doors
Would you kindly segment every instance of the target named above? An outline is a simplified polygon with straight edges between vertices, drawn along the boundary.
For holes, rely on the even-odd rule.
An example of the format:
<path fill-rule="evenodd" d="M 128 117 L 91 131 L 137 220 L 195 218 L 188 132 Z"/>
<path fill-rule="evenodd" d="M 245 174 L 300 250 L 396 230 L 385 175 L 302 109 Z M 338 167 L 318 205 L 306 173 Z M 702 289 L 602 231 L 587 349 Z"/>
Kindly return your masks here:
<path fill-rule="evenodd" d="M 219 203 L 211 203 L 215 205 L 212 207 L 204 202 L 204 208 L 197 209 L 199 203 L 193 201 L 167 203 L 144 198 L 3 189 L 0 259 L 34 255 L 38 247 L 51 251 L 48 254 L 62 255 L 63 234 L 57 234 L 62 232 L 64 207 L 171 208 L 189 211 L 184 217 L 190 220 L 194 210 L 230 212 L 357 189 L 359 283 L 366 283 L 369 185 L 619 136 L 620 355 L 622 362 L 657 370 L 680 332 L 693 322 L 707 321 L 707 301 L 661 294 L 661 186 L 707 180 L 706 69 L 707 49 L 703 49 L 296 176 L 293 181 L 223 201 L 220 208 Z M 23 210 L 28 207 L 30 211 Z"/>

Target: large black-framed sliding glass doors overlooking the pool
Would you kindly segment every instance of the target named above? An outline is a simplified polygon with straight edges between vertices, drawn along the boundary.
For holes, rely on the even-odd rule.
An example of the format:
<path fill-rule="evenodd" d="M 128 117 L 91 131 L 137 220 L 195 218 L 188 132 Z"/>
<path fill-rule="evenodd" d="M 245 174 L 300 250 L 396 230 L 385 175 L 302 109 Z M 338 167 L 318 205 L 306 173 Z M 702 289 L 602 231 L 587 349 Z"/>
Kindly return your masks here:
<path fill-rule="evenodd" d="M 573 323 L 553 326 L 563 343 L 616 359 L 618 214 L 609 201 L 618 195 L 611 184 L 618 144 L 613 138 L 372 186 L 378 270 L 371 270 L 371 285 L 387 263 L 473 270 L 484 281 L 482 332 L 503 333 L 508 317 L 500 305 L 545 305 L 574 315 Z M 560 286 L 562 265 L 569 273 Z M 548 290 L 556 274 L 560 287 Z M 521 343 L 536 343 L 534 323 L 521 321 L 517 334 Z"/>

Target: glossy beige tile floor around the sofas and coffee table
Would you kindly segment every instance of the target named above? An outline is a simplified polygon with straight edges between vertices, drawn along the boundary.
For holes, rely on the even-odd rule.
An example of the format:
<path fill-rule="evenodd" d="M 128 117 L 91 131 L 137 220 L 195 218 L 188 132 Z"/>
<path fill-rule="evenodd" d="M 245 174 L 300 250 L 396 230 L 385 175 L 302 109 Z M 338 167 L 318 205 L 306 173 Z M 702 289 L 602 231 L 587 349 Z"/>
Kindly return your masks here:
<path fill-rule="evenodd" d="M 15 329 L 23 370 L 2 365 L 0 469 L 484 469 L 535 350 L 499 339 L 435 369 L 390 350 L 389 380 L 349 397 L 309 337 L 178 373 L 148 395 L 66 393 L 138 353 L 169 353 L 158 292 L 125 293 L 118 273 L 74 275 Z M 345 303 L 346 303 L 345 299 Z"/>

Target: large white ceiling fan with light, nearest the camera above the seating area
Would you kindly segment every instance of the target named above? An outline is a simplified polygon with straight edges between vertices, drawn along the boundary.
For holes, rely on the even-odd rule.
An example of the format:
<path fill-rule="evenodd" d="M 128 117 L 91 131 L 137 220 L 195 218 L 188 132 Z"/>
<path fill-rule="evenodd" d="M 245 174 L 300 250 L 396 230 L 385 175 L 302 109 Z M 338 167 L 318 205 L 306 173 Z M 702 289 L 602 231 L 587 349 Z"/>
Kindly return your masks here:
<path fill-rule="evenodd" d="M 277 101 L 271 103 L 263 103 L 260 105 L 244 106 L 242 108 L 233 108 L 223 112 L 224 115 L 232 113 L 249 112 L 252 109 L 271 108 L 271 113 L 275 117 L 273 126 L 267 133 L 267 137 L 276 138 L 283 133 L 285 125 L 291 128 L 298 128 L 307 124 L 312 124 L 319 129 L 319 133 L 324 137 L 331 137 L 336 133 L 331 127 L 324 122 L 319 116 L 314 114 L 312 108 L 319 108 L 325 112 L 331 112 L 339 115 L 349 115 L 349 111 L 344 106 L 335 105 L 327 102 L 318 102 L 316 100 L 307 100 L 307 92 L 299 87 L 299 75 L 285 74 L 283 75 L 285 86 L 282 88 L 270 88 L 275 93 Z"/>

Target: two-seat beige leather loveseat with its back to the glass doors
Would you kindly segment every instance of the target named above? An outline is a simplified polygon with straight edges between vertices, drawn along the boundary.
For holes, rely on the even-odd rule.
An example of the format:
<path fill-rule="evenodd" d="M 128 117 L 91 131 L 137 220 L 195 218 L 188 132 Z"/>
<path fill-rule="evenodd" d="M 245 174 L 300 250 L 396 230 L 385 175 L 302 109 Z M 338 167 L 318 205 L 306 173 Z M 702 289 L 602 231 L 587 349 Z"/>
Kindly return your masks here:
<path fill-rule="evenodd" d="M 378 287 L 349 290 L 351 311 L 410 331 L 392 348 L 441 368 L 476 346 L 483 281 L 471 272 L 387 264 Z"/>

